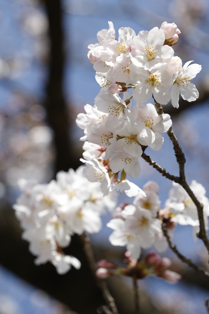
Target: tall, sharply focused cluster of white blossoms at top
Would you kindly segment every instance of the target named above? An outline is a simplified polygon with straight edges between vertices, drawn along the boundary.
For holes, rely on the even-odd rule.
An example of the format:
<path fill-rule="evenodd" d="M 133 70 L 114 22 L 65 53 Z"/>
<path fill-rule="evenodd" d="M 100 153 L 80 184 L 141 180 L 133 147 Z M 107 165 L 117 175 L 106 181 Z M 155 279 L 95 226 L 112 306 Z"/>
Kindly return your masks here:
<path fill-rule="evenodd" d="M 84 130 L 81 140 L 86 141 L 82 160 L 86 162 L 86 177 L 102 181 L 104 195 L 113 188 L 126 190 L 118 185 L 125 179 L 124 175 L 117 180 L 118 172 L 123 170 L 131 178 L 138 176 L 138 158 L 147 146 L 154 150 L 162 147 L 161 133 L 169 130 L 172 121 L 168 114 L 158 115 L 154 105 L 143 105 L 150 96 L 163 105 L 171 100 L 175 107 L 179 106 L 180 92 L 188 101 L 199 96 L 190 80 L 201 66 L 187 62 L 182 68 L 181 59 L 174 57 L 171 46 L 180 34 L 174 23 L 164 22 L 160 29 L 140 31 L 137 36 L 129 27 L 118 32 L 117 40 L 109 22 L 108 30 L 98 32 L 99 42 L 88 46 L 101 90 L 94 106 L 86 105 L 86 114 L 80 113 L 76 119 Z M 127 91 L 131 89 L 133 95 Z M 133 109 L 132 97 L 136 101 Z"/>

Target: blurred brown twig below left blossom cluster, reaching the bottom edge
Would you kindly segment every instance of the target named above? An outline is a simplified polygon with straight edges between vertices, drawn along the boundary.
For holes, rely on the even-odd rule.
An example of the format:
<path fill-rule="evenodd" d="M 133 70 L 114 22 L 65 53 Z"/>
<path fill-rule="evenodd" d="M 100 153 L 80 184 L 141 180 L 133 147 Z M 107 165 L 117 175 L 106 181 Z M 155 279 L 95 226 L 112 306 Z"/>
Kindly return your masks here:
<path fill-rule="evenodd" d="M 107 284 L 105 281 L 99 279 L 96 276 L 96 263 L 94 260 L 94 255 L 93 255 L 93 251 L 91 248 L 91 244 L 89 241 L 89 237 L 86 235 L 86 233 L 84 232 L 83 235 L 81 236 L 81 239 L 84 243 L 84 251 L 86 253 L 86 257 L 89 263 L 89 267 L 91 268 L 91 271 L 95 277 L 95 280 L 97 282 L 97 286 L 102 290 L 102 295 L 103 298 L 105 299 L 105 301 L 107 302 L 107 305 L 109 306 L 110 310 L 112 311 L 112 314 L 119 314 L 118 313 L 118 309 L 117 306 L 115 304 L 115 300 L 113 299 L 112 295 L 110 294 L 110 291 L 107 288 Z"/>

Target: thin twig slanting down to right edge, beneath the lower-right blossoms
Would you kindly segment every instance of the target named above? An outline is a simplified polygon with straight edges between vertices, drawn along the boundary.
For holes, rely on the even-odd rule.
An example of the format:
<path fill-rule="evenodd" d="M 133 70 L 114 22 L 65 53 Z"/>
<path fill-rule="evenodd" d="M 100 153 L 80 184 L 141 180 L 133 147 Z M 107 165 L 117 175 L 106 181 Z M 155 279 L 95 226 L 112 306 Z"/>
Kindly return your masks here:
<path fill-rule="evenodd" d="M 197 273 L 200 273 L 201 275 L 203 275 L 206 279 L 209 280 L 209 273 L 207 271 L 205 271 L 203 268 L 198 267 L 195 263 L 193 263 L 191 261 L 191 259 L 186 258 L 184 255 L 182 255 L 176 248 L 176 246 L 173 244 L 173 242 L 170 239 L 170 236 L 168 235 L 168 229 L 167 227 L 162 224 L 162 230 L 164 233 L 164 236 L 166 237 L 169 247 L 171 248 L 171 250 L 175 253 L 176 256 L 178 256 L 178 258 L 181 260 L 181 262 L 187 264 L 190 268 L 194 269 Z"/>

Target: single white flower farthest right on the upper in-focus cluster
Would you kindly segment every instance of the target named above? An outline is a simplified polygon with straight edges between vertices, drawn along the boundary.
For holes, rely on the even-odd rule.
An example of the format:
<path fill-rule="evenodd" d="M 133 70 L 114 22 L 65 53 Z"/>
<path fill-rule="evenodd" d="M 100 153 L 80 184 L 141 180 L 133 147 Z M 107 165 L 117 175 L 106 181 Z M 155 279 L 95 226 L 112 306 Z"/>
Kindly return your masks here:
<path fill-rule="evenodd" d="M 189 102 L 199 97 L 199 92 L 195 85 L 190 82 L 201 71 L 201 65 L 191 64 L 192 61 L 185 63 L 183 68 L 179 69 L 174 75 L 173 85 L 171 89 L 171 103 L 175 108 L 179 108 L 179 93 L 184 100 Z"/>

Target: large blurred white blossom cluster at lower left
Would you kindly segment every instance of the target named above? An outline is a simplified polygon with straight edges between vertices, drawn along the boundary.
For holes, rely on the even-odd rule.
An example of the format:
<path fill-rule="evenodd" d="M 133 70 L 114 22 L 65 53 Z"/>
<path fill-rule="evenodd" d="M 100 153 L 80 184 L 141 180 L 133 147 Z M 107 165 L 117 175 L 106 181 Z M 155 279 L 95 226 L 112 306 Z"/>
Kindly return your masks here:
<path fill-rule="evenodd" d="M 22 194 L 13 205 L 24 229 L 24 240 L 29 251 L 36 255 L 37 265 L 51 262 L 60 274 L 73 265 L 79 269 L 80 261 L 65 255 L 62 248 L 69 246 L 73 234 L 97 233 L 102 228 L 101 214 L 105 208 L 115 208 L 115 197 L 103 197 L 100 183 L 90 183 L 83 175 L 83 166 L 76 171 L 57 173 L 56 181 L 37 184 L 19 180 Z"/>

